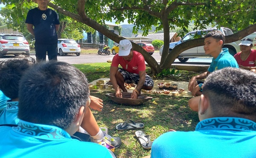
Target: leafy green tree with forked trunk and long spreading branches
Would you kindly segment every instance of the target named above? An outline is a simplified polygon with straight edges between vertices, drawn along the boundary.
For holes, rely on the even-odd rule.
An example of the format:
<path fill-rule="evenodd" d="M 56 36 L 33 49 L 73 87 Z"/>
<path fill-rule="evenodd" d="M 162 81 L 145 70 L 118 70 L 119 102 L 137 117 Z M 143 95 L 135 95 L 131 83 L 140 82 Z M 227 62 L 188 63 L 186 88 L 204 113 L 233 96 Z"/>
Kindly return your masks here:
<path fill-rule="evenodd" d="M 17 0 L 1 2 L 15 5 L 12 8 L 17 13 L 12 14 L 14 19 L 26 16 L 27 8 L 33 4 L 30 0 L 23 0 L 22 3 Z M 164 48 L 160 64 L 143 48 L 132 43 L 134 50 L 143 54 L 153 74 L 170 68 L 175 58 L 186 49 L 203 45 L 203 39 L 195 39 L 183 42 L 168 53 L 170 28 L 180 27 L 184 32 L 188 32 L 189 23 L 193 20 L 194 29 L 211 25 L 238 31 L 228 36 L 226 42 L 240 40 L 256 31 L 255 0 L 52 0 L 49 6 L 59 14 L 84 23 L 118 43 L 124 38 L 105 28 L 105 20 L 113 19 L 120 23 L 128 19 L 129 23 L 135 25 L 134 33 L 141 29 L 143 35 L 148 34 L 152 25 L 157 26 L 156 31 L 163 29 Z"/>

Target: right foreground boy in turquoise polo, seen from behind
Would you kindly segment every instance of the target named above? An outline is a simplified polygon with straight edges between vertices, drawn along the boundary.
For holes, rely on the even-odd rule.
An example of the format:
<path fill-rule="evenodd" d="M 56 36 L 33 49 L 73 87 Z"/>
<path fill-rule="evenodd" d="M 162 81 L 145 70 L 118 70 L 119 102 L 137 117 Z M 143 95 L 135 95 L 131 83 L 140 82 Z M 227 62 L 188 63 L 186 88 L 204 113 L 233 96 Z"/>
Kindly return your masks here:
<path fill-rule="evenodd" d="M 193 132 L 157 138 L 151 158 L 252 158 L 256 156 L 256 74 L 237 68 L 211 73 L 198 105 Z"/>

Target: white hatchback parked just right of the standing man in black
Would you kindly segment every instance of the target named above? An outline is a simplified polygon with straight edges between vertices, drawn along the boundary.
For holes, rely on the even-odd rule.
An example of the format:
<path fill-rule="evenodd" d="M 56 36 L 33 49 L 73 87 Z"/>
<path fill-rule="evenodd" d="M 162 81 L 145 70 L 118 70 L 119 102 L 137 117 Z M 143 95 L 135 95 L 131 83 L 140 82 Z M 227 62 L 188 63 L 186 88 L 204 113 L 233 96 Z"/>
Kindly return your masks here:
<path fill-rule="evenodd" d="M 79 56 L 81 53 L 80 45 L 72 39 L 58 39 L 58 54 L 60 56 L 74 53 Z"/>

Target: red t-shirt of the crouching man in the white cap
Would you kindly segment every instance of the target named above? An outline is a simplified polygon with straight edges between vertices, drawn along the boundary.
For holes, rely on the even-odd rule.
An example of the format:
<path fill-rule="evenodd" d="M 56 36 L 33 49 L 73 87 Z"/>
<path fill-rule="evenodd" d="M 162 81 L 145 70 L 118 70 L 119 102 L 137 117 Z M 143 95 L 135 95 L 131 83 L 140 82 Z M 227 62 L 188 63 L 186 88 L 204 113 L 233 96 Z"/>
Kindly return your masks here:
<path fill-rule="evenodd" d="M 140 71 L 145 71 L 146 70 L 146 65 L 145 65 L 145 59 L 142 54 L 140 54 L 137 51 L 133 51 L 133 57 L 131 61 L 127 61 L 122 58 L 122 56 L 119 56 L 116 54 L 113 57 L 111 66 L 113 67 L 118 67 L 118 65 L 121 65 L 122 68 L 130 73 L 137 73 L 139 74 Z M 126 69 L 126 64 L 128 64 L 128 68 Z"/>

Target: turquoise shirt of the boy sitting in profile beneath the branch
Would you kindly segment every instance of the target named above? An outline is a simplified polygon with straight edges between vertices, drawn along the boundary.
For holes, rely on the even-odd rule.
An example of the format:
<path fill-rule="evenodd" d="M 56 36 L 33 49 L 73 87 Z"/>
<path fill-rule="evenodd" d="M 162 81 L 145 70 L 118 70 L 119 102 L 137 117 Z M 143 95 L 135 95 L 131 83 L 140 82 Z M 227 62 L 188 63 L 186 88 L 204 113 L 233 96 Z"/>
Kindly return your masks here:
<path fill-rule="evenodd" d="M 223 48 L 216 59 L 212 58 L 208 71 L 213 72 L 226 67 L 239 68 L 239 65 L 236 59 L 228 52 L 228 48 Z"/>

